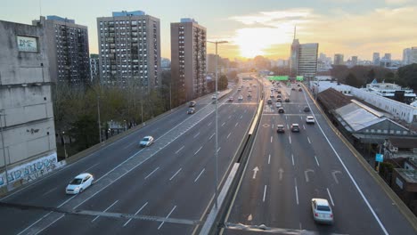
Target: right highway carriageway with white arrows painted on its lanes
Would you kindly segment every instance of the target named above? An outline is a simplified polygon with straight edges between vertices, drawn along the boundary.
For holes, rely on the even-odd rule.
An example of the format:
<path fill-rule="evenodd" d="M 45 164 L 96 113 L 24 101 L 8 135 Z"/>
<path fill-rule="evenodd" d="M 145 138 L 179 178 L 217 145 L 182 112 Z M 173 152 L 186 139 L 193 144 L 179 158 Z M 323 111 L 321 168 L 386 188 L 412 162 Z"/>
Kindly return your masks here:
<path fill-rule="evenodd" d="M 264 84 L 266 97 L 276 95 L 269 89 L 274 85 L 266 80 Z M 298 92 L 296 84 L 290 87 L 278 87 L 283 98 L 290 98 L 290 102 L 282 102 L 285 113 L 279 114 L 274 105 L 264 107 L 221 234 L 258 234 L 265 230 L 277 234 L 416 234 L 331 130 L 307 93 Z M 304 112 L 305 106 L 311 111 Z M 316 123 L 307 125 L 306 117 L 312 114 Z M 294 123 L 299 124 L 299 133 L 290 132 Z M 285 134 L 276 133 L 278 124 L 285 126 Z M 331 203 L 332 225 L 314 222 L 313 198 Z"/>

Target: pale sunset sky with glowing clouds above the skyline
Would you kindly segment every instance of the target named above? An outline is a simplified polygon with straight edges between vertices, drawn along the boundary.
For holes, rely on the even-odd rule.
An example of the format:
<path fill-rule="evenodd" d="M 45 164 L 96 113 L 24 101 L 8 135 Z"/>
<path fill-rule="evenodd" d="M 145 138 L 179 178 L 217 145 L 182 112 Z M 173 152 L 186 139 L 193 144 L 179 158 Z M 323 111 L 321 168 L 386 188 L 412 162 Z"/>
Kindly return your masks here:
<path fill-rule="evenodd" d="M 207 28 L 222 57 L 262 55 L 288 59 L 297 26 L 301 44 L 318 43 L 319 53 L 345 60 L 417 46 L 417 0 L 2 0 L 0 20 L 31 24 L 40 15 L 58 15 L 88 27 L 90 53 L 98 53 L 96 18 L 141 10 L 160 20 L 161 56 L 170 59 L 170 23 L 193 18 Z M 208 52 L 215 53 L 208 44 Z"/>

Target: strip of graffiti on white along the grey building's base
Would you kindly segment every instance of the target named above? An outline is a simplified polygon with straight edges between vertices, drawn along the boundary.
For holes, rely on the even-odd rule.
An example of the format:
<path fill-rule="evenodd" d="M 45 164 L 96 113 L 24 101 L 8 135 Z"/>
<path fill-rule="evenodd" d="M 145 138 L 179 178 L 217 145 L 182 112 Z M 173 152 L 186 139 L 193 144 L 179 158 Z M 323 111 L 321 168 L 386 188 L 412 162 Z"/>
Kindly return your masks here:
<path fill-rule="evenodd" d="M 7 171 L 7 179 L 9 184 L 13 182 L 26 183 L 36 180 L 42 175 L 52 172 L 61 164 L 57 162 L 56 153 L 53 153 L 44 158 L 37 158 L 29 163 L 16 166 Z M 5 172 L 0 174 L 0 187 L 6 184 Z"/>

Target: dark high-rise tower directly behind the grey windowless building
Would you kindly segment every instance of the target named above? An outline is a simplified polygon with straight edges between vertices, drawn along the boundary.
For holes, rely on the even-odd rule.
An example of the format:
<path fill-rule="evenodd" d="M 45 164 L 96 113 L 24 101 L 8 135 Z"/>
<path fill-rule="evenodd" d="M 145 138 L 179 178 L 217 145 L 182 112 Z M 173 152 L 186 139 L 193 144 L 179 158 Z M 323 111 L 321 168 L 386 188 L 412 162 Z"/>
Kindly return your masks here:
<path fill-rule="evenodd" d="M 91 81 L 88 30 L 75 20 L 59 16 L 41 17 L 33 25 L 45 28 L 48 41 L 49 74 L 57 85 L 87 85 Z"/>

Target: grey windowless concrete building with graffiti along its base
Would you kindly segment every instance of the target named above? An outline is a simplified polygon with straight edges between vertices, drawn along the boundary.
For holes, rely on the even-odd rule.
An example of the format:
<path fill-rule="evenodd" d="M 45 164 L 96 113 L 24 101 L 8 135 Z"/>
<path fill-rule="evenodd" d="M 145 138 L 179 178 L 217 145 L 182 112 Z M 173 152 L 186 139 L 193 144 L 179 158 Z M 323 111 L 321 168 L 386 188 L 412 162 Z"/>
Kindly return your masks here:
<path fill-rule="evenodd" d="M 57 167 L 48 42 L 42 25 L 0 21 L 0 190 Z"/>

